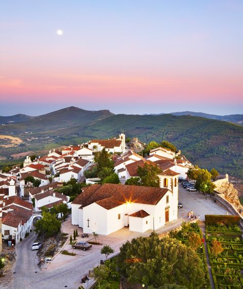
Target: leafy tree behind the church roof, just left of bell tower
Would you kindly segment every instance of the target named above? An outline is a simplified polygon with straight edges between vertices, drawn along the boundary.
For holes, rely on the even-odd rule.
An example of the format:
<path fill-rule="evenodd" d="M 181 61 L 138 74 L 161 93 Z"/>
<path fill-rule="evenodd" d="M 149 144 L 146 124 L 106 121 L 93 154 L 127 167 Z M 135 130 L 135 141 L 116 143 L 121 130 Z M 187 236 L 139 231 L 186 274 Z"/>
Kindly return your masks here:
<path fill-rule="evenodd" d="M 144 166 L 138 166 L 137 172 L 140 176 L 142 186 L 159 187 L 158 174 L 161 170 L 157 165 L 145 162 Z"/>

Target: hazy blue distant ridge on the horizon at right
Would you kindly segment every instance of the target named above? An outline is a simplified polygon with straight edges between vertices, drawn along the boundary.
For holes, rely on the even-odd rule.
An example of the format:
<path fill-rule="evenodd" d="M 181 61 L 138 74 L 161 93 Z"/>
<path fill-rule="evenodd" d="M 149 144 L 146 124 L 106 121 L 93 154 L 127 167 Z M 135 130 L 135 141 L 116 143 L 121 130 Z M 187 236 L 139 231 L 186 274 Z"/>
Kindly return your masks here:
<path fill-rule="evenodd" d="M 163 115 L 165 113 L 160 113 L 160 114 L 149 114 L 149 115 Z M 205 117 L 209 119 L 216 119 L 216 120 L 222 120 L 222 121 L 229 121 L 237 124 L 243 125 L 243 114 L 231 114 L 231 115 L 215 115 L 215 114 L 205 114 L 205 113 L 196 113 L 196 112 L 175 112 L 175 113 L 170 113 L 172 115 L 192 115 L 192 116 L 198 116 L 198 117 Z M 148 115 L 148 114 L 145 114 Z"/>

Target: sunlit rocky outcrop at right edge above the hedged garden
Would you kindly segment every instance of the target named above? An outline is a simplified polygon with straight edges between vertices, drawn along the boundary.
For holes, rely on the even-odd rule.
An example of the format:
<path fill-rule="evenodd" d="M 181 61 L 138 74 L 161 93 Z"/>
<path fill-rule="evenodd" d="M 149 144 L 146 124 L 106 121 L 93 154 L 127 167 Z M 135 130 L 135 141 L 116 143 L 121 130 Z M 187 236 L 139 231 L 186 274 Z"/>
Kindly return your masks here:
<path fill-rule="evenodd" d="M 228 202 L 235 206 L 238 212 L 243 215 L 243 206 L 239 202 L 238 191 L 234 188 L 234 185 L 229 182 L 229 177 L 219 179 L 214 182 L 216 188 L 215 191 L 221 194 Z"/>

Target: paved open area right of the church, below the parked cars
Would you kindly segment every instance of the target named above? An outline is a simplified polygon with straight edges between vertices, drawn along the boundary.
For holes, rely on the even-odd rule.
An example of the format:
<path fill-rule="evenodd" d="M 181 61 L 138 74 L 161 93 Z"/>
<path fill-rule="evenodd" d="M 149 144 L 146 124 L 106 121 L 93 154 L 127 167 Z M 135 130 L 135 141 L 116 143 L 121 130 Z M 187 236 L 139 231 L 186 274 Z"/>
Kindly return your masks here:
<path fill-rule="evenodd" d="M 215 215 L 225 215 L 227 210 L 222 208 L 218 203 L 214 203 L 214 198 L 207 195 L 204 196 L 200 192 L 189 192 L 184 189 L 181 184 L 179 184 L 179 202 L 183 203 L 183 208 L 178 209 L 179 218 L 187 218 L 188 211 L 193 211 L 198 217 L 200 215 L 200 220 L 205 221 L 205 215 L 215 214 Z M 231 214 L 228 211 L 228 214 Z"/>

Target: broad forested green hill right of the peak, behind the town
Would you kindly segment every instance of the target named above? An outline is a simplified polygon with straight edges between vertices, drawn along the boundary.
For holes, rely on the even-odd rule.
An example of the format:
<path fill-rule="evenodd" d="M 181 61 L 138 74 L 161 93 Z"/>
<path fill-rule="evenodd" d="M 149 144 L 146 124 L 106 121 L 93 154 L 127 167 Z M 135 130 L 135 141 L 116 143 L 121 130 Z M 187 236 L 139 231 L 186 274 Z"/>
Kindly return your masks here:
<path fill-rule="evenodd" d="M 87 127 L 82 135 L 101 138 L 117 135 L 141 141 L 169 140 L 194 164 L 243 177 L 243 127 L 194 116 L 115 115 Z"/>

